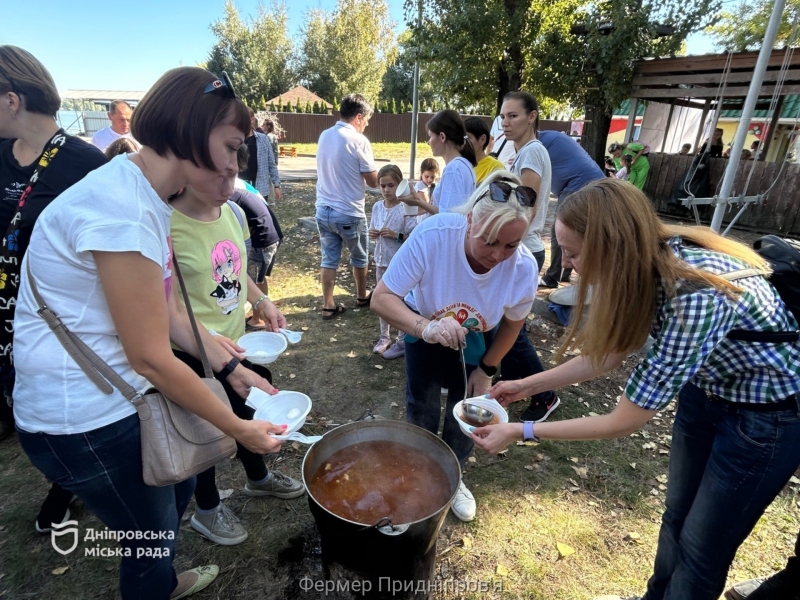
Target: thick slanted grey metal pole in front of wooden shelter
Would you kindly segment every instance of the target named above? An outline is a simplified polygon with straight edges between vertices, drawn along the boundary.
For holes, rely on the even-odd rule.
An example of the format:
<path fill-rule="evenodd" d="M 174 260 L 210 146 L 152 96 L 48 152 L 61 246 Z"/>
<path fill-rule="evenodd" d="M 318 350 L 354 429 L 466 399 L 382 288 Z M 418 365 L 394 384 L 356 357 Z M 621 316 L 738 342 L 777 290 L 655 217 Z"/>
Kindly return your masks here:
<path fill-rule="evenodd" d="M 772 7 L 772 16 L 769 18 L 767 31 L 764 34 L 761 52 L 758 53 L 756 68 L 753 70 L 753 79 L 750 82 L 750 89 L 747 91 L 747 98 L 742 107 L 742 118 L 739 120 L 739 126 L 733 138 L 731 157 L 728 160 L 728 167 L 725 169 L 725 176 L 722 179 L 722 186 L 719 190 L 719 197 L 722 200 L 727 200 L 733 189 L 733 180 L 736 178 L 736 170 L 739 166 L 739 159 L 742 156 L 742 148 L 744 148 L 747 131 L 750 129 L 750 119 L 753 117 L 753 110 L 755 109 L 759 93 L 761 92 L 764 72 L 767 70 L 767 65 L 772 55 L 772 46 L 775 44 L 775 36 L 778 33 L 778 26 L 780 25 L 785 6 L 786 0 L 775 0 L 775 4 Z M 722 217 L 725 216 L 726 207 L 727 204 L 717 204 L 716 208 L 714 208 L 714 218 L 711 219 L 711 229 L 714 231 L 719 232 L 722 227 Z"/>

